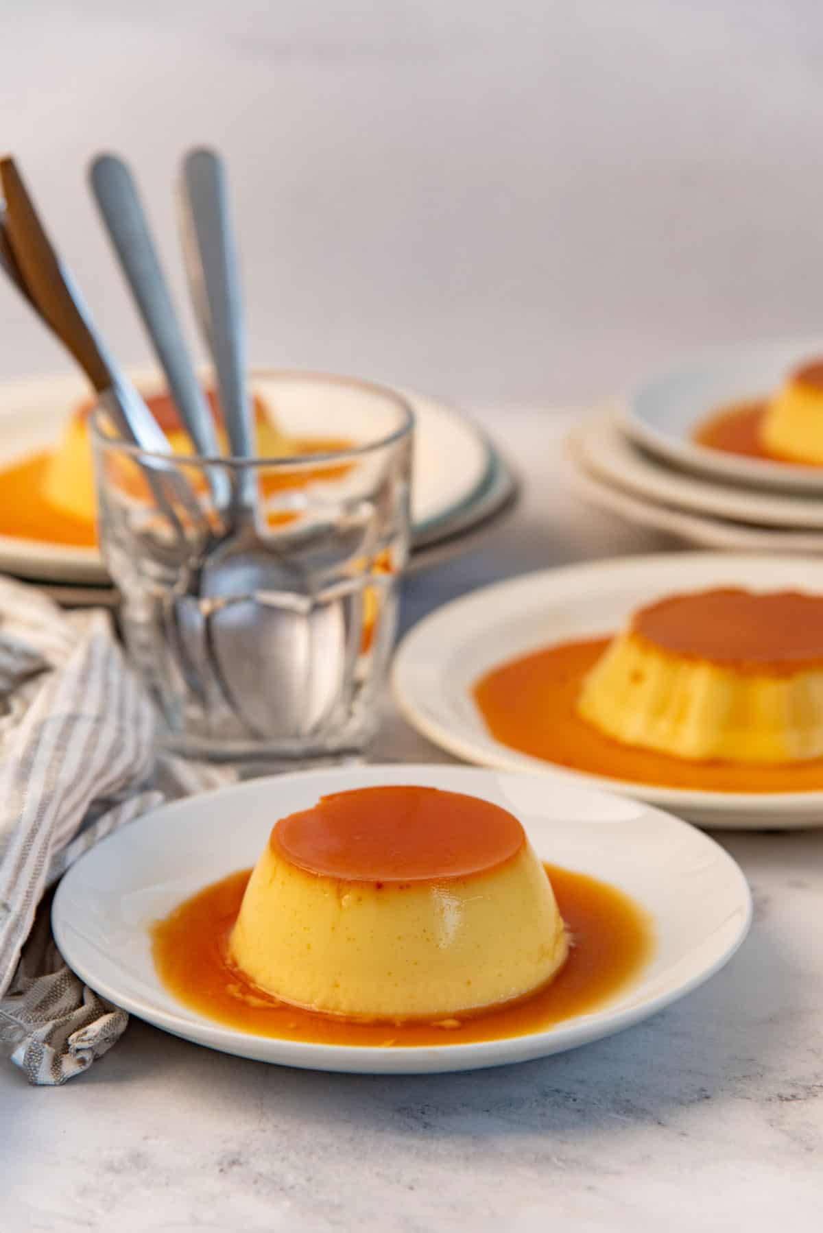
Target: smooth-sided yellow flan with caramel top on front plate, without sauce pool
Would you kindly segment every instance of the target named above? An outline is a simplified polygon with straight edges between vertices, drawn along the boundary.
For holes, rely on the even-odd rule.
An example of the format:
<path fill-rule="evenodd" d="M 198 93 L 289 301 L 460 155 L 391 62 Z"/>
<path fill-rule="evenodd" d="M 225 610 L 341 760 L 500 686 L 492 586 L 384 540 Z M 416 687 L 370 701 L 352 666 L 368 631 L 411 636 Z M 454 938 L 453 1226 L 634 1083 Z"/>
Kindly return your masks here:
<path fill-rule="evenodd" d="M 228 946 L 280 1001 L 444 1026 L 538 990 L 568 953 L 519 821 L 402 785 L 336 793 L 276 822 Z"/>

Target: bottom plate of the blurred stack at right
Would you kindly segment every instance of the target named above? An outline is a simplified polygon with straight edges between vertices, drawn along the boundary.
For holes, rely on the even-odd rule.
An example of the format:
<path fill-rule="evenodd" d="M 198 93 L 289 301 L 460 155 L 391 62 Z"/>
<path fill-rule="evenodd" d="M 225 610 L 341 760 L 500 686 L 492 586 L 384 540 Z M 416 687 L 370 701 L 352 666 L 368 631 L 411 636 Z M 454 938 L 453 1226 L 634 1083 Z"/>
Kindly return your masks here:
<path fill-rule="evenodd" d="M 672 509 L 648 497 L 632 496 L 592 475 L 586 469 L 575 439 L 568 443 L 568 457 L 574 467 L 571 486 L 576 494 L 596 509 L 617 514 L 635 526 L 674 535 L 696 547 L 732 552 L 823 552 L 823 531 L 763 530 L 723 518 Z"/>

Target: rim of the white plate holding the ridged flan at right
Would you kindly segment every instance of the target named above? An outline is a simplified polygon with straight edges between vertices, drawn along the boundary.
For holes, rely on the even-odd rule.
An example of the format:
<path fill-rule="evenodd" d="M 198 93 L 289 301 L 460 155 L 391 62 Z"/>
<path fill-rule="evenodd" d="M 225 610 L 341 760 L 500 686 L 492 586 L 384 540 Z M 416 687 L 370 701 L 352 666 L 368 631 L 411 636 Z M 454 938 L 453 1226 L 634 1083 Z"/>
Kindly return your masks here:
<path fill-rule="evenodd" d="M 455 735 L 445 723 L 439 723 L 423 713 L 415 704 L 413 690 L 407 690 L 405 674 L 407 661 L 417 652 L 418 642 L 426 645 L 429 639 L 443 645 L 440 625 L 444 620 L 455 620 L 459 624 L 461 613 L 476 608 L 479 603 L 487 600 L 490 593 L 505 593 L 515 588 L 531 588 L 545 586 L 550 589 L 552 583 L 558 577 L 574 577 L 575 575 L 601 575 L 606 572 L 619 575 L 622 571 L 650 568 L 658 563 L 671 566 L 698 565 L 708 561 L 719 562 L 734 570 L 738 566 L 746 567 L 754 562 L 755 567 L 775 563 L 775 557 L 767 554 L 756 552 L 716 552 L 711 550 L 692 552 L 651 552 L 637 554 L 634 556 L 606 557 L 596 561 L 582 561 L 571 565 L 533 570 L 527 573 L 492 582 L 489 586 L 479 587 L 469 594 L 460 596 L 447 604 L 440 605 L 434 612 L 428 613 L 418 620 L 401 639 L 395 651 L 390 672 L 390 688 L 395 705 L 401 715 L 418 732 L 426 736 L 440 748 L 447 750 L 475 766 L 494 767 L 497 771 L 511 773 L 526 772 L 555 778 L 569 784 L 579 784 L 592 790 L 612 793 L 619 797 L 629 797 L 642 800 L 645 804 L 672 813 L 690 811 L 692 821 L 697 821 L 696 811 L 712 815 L 712 826 L 745 829 L 745 830 L 774 830 L 774 829 L 812 829 L 823 826 L 821 813 L 823 810 L 823 789 L 813 792 L 784 792 L 784 793 L 743 793 L 743 792 L 717 792 L 707 789 L 666 788 L 655 784 L 635 783 L 634 780 L 610 779 L 607 776 L 595 776 L 574 771 L 570 767 L 561 767 L 556 763 L 543 762 L 531 755 L 519 753 L 497 741 L 491 734 L 487 735 L 490 751 L 478 753 L 476 745 L 470 739 Z M 823 575 L 823 560 L 802 556 L 786 555 L 780 557 L 781 566 L 797 565 L 808 570 L 809 565 Z M 822 586 L 823 593 L 823 586 Z M 413 678 L 413 673 L 411 674 Z M 411 693 L 411 698 L 410 698 Z M 500 752 L 497 752 L 500 751 Z M 748 821 L 740 825 L 735 819 L 746 815 Z M 719 817 L 724 821 L 721 821 Z M 776 815 L 791 819 L 791 822 L 776 821 Z M 707 824 L 709 825 L 709 824 Z"/>

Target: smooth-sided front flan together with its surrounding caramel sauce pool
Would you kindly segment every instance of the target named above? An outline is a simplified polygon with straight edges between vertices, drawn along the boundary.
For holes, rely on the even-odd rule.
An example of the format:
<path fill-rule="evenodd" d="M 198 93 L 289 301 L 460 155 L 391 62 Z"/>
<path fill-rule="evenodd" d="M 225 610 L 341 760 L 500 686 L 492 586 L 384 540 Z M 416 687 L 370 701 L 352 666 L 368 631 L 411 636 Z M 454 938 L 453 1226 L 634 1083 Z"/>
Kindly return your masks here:
<path fill-rule="evenodd" d="M 243 1031 L 345 1044 L 539 1031 L 613 995 L 650 949 L 642 909 L 543 867 L 507 810 L 411 785 L 281 819 L 250 875 L 205 888 L 153 931 L 158 972 L 185 1004 Z"/>

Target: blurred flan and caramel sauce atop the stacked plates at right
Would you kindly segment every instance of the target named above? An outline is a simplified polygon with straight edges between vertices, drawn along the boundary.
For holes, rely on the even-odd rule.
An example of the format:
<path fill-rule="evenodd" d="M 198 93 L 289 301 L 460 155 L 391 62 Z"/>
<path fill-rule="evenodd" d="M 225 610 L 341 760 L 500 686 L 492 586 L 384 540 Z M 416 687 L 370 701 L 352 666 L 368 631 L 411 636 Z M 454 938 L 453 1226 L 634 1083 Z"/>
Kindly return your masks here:
<path fill-rule="evenodd" d="M 823 359 L 792 372 L 770 397 L 714 413 L 695 440 L 744 457 L 823 466 Z"/>

